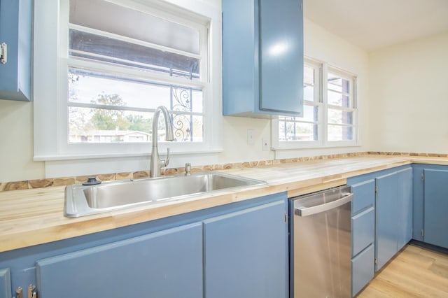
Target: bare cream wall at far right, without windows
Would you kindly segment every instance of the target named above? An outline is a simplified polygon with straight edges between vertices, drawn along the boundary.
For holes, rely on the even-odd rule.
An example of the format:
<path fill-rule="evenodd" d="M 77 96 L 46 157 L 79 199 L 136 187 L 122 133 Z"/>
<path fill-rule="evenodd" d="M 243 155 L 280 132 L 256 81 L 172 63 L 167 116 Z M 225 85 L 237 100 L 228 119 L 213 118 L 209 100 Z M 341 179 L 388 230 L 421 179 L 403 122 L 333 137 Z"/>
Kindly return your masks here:
<path fill-rule="evenodd" d="M 448 153 L 448 32 L 370 54 L 370 148 Z"/>

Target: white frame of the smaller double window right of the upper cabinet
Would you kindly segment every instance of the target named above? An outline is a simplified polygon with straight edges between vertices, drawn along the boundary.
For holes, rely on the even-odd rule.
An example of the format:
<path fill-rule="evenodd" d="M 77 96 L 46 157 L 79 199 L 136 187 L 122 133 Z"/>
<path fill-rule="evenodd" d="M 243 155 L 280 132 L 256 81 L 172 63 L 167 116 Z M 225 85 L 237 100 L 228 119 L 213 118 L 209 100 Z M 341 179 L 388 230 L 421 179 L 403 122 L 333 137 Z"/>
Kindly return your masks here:
<path fill-rule="evenodd" d="M 311 66 L 315 70 L 315 90 L 314 102 L 308 102 L 308 105 L 319 106 L 318 113 L 318 139 L 316 141 L 280 141 L 279 139 L 279 119 L 272 120 L 272 149 L 273 150 L 294 150 L 294 149 L 323 149 L 323 148 L 343 148 L 360 146 L 359 144 L 359 122 L 358 122 L 358 97 L 356 94 L 357 89 L 357 76 L 349 71 L 339 69 L 328 63 L 321 62 L 311 57 L 304 57 L 304 64 Z M 353 107 L 341 108 L 328 104 L 328 87 L 327 87 L 327 74 L 328 70 L 332 73 L 337 73 L 343 78 L 351 80 L 353 90 Z M 328 141 L 328 108 L 337 108 L 341 110 L 353 111 L 353 140 L 351 141 Z M 300 121 L 300 120 L 299 120 Z"/>

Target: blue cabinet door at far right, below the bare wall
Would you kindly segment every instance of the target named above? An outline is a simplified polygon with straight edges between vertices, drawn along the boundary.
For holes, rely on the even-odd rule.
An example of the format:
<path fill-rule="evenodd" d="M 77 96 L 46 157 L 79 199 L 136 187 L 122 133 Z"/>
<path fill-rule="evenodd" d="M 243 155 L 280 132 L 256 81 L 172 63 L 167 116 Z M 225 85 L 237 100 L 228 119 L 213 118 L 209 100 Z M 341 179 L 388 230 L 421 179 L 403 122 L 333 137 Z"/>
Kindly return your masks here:
<path fill-rule="evenodd" d="M 448 170 L 424 170 L 423 241 L 448 248 Z"/>

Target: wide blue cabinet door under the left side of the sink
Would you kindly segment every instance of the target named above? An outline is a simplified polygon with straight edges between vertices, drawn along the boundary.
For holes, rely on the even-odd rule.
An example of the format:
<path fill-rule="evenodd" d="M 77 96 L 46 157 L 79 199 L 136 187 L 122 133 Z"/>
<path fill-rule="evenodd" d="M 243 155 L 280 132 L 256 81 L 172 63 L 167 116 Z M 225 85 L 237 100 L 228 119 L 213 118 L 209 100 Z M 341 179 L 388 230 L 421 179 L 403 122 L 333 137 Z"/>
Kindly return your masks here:
<path fill-rule="evenodd" d="M 202 297 L 202 223 L 36 262 L 39 297 Z"/>

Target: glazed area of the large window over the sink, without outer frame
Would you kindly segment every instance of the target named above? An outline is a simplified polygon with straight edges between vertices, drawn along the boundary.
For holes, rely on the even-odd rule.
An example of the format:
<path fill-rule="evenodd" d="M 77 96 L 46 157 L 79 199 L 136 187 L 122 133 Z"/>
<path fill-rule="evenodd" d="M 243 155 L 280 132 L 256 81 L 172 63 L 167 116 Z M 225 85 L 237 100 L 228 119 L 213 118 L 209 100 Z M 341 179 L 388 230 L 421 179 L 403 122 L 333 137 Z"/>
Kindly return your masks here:
<path fill-rule="evenodd" d="M 69 3 L 69 143 L 137 141 L 124 136 L 151 133 L 160 105 L 174 111 L 176 141 L 202 141 L 207 24 L 104 0 Z"/>

